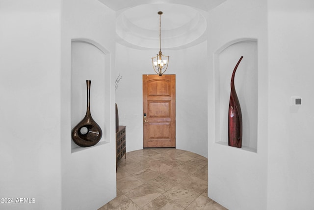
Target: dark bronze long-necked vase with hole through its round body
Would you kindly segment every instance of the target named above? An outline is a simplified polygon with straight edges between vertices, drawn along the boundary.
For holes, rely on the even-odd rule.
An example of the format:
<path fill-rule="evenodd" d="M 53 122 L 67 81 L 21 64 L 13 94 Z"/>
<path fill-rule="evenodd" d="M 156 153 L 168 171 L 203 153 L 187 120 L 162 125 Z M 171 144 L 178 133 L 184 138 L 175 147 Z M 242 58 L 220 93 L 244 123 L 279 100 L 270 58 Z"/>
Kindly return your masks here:
<path fill-rule="evenodd" d="M 87 110 L 83 120 L 72 129 L 72 139 L 80 147 L 91 147 L 96 145 L 102 138 L 102 129 L 95 122 L 90 114 L 90 85 L 91 81 L 86 80 L 87 86 Z"/>

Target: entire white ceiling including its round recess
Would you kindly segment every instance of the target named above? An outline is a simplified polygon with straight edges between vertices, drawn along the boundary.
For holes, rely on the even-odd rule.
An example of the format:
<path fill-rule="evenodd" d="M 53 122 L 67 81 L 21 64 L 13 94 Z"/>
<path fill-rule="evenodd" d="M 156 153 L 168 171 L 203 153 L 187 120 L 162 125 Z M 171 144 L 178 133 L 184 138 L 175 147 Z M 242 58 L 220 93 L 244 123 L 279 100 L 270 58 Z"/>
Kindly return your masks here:
<path fill-rule="evenodd" d="M 207 12 L 225 0 L 100 0 L 117 12 L 117 42 L 137 49 L 177 49 L 206 40 Z"/>

